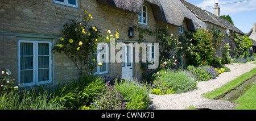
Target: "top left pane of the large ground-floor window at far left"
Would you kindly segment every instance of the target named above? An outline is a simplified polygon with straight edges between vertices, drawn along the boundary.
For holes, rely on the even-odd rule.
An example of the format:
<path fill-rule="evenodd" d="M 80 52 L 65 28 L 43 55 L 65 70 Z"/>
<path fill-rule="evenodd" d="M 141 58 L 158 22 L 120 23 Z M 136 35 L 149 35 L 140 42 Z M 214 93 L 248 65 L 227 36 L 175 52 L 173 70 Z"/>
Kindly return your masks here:
<path fill-rule="evenodd" d="M 33 55 L 33 43 L 20 43 L 20 56 Z"/>

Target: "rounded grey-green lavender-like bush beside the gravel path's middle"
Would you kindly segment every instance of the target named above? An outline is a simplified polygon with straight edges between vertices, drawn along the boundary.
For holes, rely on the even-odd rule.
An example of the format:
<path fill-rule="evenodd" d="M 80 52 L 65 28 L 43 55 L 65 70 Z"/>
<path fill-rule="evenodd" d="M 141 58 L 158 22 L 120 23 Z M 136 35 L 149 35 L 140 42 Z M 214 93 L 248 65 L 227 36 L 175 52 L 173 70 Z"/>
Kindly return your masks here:
<path fill-rule="evenodd" d="M 162 69 L 156 73 L 156 76 L 158 77 L 155 81 L 161 80 L 164 84 L 171 87 L 175 93 L 196 89 L 197 82 L 195 78 L 183 69 Z"/>

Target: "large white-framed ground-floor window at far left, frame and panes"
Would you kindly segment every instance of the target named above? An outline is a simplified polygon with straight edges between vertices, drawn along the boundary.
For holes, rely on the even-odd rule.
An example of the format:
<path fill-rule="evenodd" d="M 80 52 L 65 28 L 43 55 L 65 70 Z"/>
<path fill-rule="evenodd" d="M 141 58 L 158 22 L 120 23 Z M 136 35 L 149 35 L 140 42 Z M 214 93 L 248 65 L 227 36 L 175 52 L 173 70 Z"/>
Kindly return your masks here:
<path fill-rule="evenodd" d="M 18 80 L 20 86 L 51 83 L 51 41 L 18 42 Z"/>

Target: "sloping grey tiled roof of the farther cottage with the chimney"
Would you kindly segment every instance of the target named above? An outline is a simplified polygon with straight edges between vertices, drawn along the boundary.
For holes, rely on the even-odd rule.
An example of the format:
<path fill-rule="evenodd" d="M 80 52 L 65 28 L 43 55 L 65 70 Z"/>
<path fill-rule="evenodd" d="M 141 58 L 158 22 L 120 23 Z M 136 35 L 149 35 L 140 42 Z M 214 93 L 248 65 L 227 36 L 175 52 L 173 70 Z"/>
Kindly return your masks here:
<path fill-rule="evenodd" d="M 231 30 L 239 34 L 245 35 L 241 30 L 239 30 L 233 24 L 228 22 L 228 20 L 219 18 L 218 16 L 212 14 L 211 12 L 207 10 L 202 10 L 200 9 L 200 7 L 197 7 L 185 0 L 180 0 L 180 2 L 183 3 L 184 6 L 186 6 L 191 12 L 193 12 L 193 14 L 197 16 L 197 18 L 199 18 L 203 22 L 209 22 L 217 26 L 220 26 L 222 28 L 226 28 L 227 30 Z"/>

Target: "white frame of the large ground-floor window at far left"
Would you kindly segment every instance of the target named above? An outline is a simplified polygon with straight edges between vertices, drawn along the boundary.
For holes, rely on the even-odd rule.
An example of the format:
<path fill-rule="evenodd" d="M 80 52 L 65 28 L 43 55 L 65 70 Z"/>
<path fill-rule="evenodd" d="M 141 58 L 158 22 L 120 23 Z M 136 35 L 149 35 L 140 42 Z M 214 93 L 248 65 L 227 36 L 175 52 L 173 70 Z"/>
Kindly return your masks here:
<path fill-rule="evenodd" d="M 48 84 L 52 82 L 52 43 L 51 41 L 36 41 L 36 40 L 19 40 L 18 41 L 18 83 L 20 84 L 20 43 L 32 43 L 33 44 L 33 82 L 19 85 L 20 87 L 25 86 L 35 86 L 40 84 Z M 48 43 L 49 44 L 49 80 L 47 81 L 38 81 L 38 44 L 39 43 Z"/>

